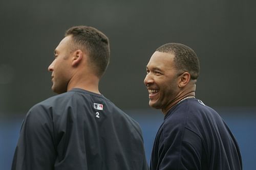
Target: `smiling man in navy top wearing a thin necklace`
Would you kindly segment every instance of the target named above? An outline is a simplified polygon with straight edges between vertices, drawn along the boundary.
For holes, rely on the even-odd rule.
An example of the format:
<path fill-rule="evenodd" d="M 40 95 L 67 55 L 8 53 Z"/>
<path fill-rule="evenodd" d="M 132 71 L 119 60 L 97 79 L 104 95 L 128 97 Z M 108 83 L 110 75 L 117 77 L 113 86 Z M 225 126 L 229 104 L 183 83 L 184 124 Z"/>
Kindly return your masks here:
<path fill-rule="evenodd" d="M 199 70 L 196 53 L 180 43 L 157 48 L 146 66 L 149 105 L 164 114 L 152 150 L 152 170 L 242 169 L 239 146 L 228 126 L 195 98 Z"/>

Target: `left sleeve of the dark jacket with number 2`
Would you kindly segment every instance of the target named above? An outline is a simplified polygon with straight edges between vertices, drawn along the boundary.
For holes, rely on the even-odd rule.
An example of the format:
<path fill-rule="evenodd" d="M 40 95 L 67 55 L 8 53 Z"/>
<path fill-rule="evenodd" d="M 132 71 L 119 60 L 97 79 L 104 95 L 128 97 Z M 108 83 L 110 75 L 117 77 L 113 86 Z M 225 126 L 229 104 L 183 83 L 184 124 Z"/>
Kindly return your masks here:
<path fill-rule="evenodd" d="M 55 157 L 51 116 L 36 105 L 24 119 L 12 170 L 53 169 Z"/>

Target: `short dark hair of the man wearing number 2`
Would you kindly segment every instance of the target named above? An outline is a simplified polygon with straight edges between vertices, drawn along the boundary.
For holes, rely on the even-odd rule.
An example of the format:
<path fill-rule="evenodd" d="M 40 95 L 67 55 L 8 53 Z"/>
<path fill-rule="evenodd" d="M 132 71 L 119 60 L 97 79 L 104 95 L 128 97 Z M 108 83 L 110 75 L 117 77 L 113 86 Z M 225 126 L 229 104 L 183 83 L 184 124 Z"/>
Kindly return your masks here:
<path fill-rule="evenodd" d="M 99 30 L 88 26 L 75 26 L 66 31 L 65 36 L 72 35 L 74 48 L 81 47 L 88 52 L 90 64 L 95 67 L 100 78 L 110 62 L 110 42 Z M 82 49 L 80 49 L 82 50 Z"/>

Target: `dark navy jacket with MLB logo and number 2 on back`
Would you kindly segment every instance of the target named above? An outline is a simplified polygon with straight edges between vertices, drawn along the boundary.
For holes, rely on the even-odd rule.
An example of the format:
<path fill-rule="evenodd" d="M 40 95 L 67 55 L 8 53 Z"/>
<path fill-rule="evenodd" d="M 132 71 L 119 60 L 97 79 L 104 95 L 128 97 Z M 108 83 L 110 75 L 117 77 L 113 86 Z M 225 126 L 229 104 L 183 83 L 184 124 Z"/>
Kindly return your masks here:
<path fill-rule="evenodd" d="M 12 169 L 130 170 L 148 166 L 138 123 L 103 95 L 72 89 L 29 110 Z"/>

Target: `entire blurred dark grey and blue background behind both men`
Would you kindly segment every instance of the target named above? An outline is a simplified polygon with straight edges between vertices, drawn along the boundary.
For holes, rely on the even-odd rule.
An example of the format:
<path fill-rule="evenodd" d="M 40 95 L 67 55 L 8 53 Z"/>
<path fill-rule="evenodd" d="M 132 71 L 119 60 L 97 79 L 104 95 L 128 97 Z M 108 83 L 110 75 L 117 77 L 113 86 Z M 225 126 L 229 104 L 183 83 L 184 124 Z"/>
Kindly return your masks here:
<path fill-rule="evenodd" d="M 216 109 L 256 157 L 256 1 L 0 0 L 0 169 L 10 169 L 26 112 L 55 95 L 47 68 L 67 29 L 92 26 L 111 42 L 101 93 L 141 125 L 147 160 L 163 115 L 148 106 L 145 66 L 167 42 L 193 48 L 201 63 L 197 98 Z"/>

